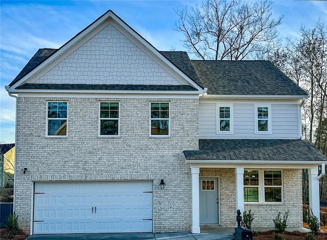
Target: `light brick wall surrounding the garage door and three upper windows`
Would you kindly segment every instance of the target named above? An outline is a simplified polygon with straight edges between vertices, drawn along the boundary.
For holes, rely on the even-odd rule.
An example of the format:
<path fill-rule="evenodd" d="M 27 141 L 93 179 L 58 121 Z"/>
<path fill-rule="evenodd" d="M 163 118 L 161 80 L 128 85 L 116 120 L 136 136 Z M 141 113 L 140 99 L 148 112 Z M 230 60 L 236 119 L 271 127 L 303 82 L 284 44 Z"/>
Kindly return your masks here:
<path fill-rule="evenodd" d="M 68 101 L 67 137 L 46 137 L 46 101 Z M 120 136 L 99 137 L 99 102 L 120 102 Z M 170 137 L 150 137 L 150 102 L 171 103 Z M 19 98 L 15 211 L 30 232 L 34 181 L 153 180 L 154 232 L 190 231 L 197 99 Z M 159 189 L 160 179 L 166 187 Z"/>

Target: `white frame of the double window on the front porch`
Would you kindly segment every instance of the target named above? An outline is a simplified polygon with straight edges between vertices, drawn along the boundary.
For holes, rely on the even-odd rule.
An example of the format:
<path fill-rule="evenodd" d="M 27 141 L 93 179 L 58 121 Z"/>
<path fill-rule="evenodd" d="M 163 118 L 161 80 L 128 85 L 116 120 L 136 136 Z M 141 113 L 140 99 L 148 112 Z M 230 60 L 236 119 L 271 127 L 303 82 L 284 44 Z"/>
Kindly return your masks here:
<path fill-rule="evenodd" d="M 258 202 L 245 202 L 245 204 L 283 204 L 284 203 L 284 173 L 282 169 L 244 169 L 244 171 L 258 171 L 259 174 L 259 186 L 258 186 Z M 267 187 L 280 187 L 281 188 L 281 202 L 266 202 L 265 201 L 265 171 L 281 171 L 282 175 L 282 185 L 281 186 L 267 186 Z M 247 185 L 244 187 L 251 187 L 251 185 Z M 257 187 L 253 185 L 253 187 Z"/>

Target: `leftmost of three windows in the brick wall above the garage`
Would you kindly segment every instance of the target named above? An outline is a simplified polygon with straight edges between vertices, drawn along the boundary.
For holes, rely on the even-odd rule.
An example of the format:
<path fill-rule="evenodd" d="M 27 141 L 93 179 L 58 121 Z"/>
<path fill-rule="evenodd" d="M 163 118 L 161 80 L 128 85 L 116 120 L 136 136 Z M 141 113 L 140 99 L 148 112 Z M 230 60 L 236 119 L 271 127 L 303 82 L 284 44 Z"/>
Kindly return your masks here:
<path fill-rule="evenodd" d="M 67 136 L 67 102 L 48 102 L 46 121 L 48 136 Z"/>

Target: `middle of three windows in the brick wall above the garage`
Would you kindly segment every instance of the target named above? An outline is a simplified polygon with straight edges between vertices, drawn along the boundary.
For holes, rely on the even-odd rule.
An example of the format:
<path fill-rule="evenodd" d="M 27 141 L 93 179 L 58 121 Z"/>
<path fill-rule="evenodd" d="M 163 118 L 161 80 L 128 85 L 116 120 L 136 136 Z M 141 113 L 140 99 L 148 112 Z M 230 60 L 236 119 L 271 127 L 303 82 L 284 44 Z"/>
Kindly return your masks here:
<path fill-rule="evenodd" d="M 100 136 L 119 136 L 119 103 L 100 103 Z"/>

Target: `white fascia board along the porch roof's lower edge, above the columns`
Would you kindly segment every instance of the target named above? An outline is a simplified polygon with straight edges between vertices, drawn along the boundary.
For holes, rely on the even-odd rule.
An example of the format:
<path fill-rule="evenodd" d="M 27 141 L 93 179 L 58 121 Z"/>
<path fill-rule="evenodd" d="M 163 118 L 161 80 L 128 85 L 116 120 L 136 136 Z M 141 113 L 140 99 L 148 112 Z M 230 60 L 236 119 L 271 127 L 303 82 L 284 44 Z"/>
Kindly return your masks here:
<path fill-rule="evenodd" d="M 327 163 L 327 161 L 296 161 L 296 160 L 251 160 L 249 162 L 248 160 L 187 160 L 186 163 L 189 164 L 246 164 L 246 165 L 252 165 L 252 164 L 272 164 L 272 165 L 294 165 L 295 168 L 296 165 L 313 165 L 313 164 L 321 164 L 321 163 Z M 217 167 L 217 166 L 216 166 Z M 265 166 L 266 167 L 266 166 Z"/>

